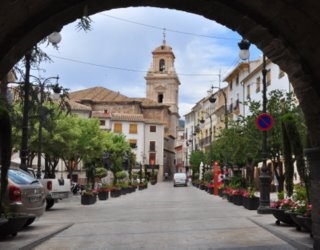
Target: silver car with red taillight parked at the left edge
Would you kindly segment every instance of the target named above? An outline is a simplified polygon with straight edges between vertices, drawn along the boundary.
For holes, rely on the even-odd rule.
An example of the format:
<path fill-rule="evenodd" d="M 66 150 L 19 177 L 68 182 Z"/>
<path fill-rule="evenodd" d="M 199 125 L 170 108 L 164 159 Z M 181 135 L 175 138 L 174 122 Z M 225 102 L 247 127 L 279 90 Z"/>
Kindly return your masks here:
<path fill-rule="evenodd" d="M 3 204 L 13 215 L 28 214 L 30 218 L 25 224 L 28 226 L 45 212 L 46 195 L 43 185 L 22 169 L 10 168 Z"/>

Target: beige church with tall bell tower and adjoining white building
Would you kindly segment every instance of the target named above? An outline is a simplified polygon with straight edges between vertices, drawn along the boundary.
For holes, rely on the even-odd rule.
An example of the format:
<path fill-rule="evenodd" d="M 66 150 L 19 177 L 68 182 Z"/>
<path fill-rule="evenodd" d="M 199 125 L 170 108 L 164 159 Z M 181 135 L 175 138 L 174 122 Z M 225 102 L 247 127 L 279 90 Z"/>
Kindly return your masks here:
<path fill-rule="evenodd" d="M 148 172 L 157 169 L 160 181 L 164 173 L 175 172 L 180 81 L 174 59 L 165 40 L 152 51 L 152 64 L 145 76 L 146 98 L 130 98 L 104 87 L 70 93 L 74 113 L 98 118 L 101 129 L 124 134 L 136 161 Z"/>

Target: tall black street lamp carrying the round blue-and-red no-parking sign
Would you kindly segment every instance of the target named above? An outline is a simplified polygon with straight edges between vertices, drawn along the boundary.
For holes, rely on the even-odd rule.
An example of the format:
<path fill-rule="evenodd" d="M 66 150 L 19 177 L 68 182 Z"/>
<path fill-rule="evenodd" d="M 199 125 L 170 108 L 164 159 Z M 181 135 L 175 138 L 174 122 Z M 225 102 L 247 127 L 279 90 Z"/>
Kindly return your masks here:
<path fill-rule="evenodd" d="M 246 39 L 242 39 L 238 43 L 240 48 L 240 58 L 242 60 L 247 60 L 249 58 L 249 47 L 250 42 Z M 266 69 L 266 56 L 263 54 L 263 63 L 262 63 L 262 113 L 267 112 L 267 81 L 266 81 L 267 69 Z M 267 131 L 262 131 L 262 167 L 260 179 L 260 205 L 258 208 L 258 213 L 268 213 L 268 208 L 270 207 L 270 183 L 271 177 L 268 173 L 267 167 Z"/>

